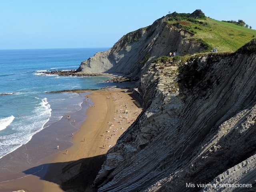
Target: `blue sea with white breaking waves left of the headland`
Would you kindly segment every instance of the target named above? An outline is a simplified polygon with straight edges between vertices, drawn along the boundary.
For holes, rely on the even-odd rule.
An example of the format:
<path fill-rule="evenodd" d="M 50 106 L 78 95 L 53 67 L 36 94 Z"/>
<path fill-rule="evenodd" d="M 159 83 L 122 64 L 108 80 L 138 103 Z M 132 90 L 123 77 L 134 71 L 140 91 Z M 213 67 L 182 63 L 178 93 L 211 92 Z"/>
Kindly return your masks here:
<path fill-rule="evenodd" d="M 108 48 L 0 50 L 0 158 L 26 144 L 34 134 L 81 109 L 84 96 L 47 93 L 112 86 L 107 76 L 45 75 L 74 70 Z"/>

